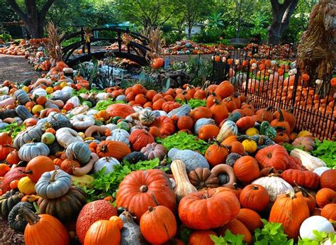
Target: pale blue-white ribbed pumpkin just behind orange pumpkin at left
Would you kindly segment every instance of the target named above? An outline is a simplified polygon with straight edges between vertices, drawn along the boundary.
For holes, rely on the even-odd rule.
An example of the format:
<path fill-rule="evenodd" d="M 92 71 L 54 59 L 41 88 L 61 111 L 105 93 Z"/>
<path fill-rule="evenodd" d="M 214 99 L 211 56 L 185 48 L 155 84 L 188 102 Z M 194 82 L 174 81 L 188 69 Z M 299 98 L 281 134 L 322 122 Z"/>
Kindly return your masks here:
<path fill-rule="evenodd" d="M 49 147 L 47 147 L 45 143 L 25 143 L 21 146 L 20 150 L 18 150 L 18 157 L 21 160 L 29 162 L 37 156 L 48 156 L 49 153 Z"/>

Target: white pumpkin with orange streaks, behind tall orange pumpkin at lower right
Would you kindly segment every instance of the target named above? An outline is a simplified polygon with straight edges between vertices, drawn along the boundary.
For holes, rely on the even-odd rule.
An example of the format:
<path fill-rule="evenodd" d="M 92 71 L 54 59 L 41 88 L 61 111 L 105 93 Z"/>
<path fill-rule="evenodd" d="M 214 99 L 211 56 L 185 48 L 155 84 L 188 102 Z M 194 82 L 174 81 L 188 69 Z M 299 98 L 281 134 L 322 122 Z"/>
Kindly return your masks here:
<path fill-rule="evenodd" d="M 269 192 L 269 200 L 271 202 L 275 202 L 276 197 L 287 191 L 294 192 L 293 187 L 286 180 L 276 176 L 262 177 L 254 180 L 252 184 L 262 185 Z"/>

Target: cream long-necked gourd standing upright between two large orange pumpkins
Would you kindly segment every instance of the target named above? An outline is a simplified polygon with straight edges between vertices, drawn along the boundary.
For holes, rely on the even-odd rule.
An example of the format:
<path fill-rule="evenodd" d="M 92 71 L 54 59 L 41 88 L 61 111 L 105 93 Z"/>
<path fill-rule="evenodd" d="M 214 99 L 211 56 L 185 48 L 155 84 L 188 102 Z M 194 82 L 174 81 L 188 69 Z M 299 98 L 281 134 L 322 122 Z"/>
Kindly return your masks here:
<path fill-rule="evenodd" d="M 196 187 L 191 185 L 188 175 L 186 174 L 186 165 L 181 160 L 174 160 L 170 167 L 175 179 L 174 192 L 177 195 L 177 200 L 181 200 L 185 195 L 197 192 Z"/>

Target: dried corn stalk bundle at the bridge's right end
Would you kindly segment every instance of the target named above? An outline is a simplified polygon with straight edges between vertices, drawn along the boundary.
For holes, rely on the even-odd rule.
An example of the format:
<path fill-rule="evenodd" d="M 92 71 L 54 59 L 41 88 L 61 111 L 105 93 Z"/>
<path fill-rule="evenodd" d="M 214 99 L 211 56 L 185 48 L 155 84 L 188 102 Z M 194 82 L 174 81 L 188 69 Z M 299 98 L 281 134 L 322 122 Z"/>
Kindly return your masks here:
<path fill-rule="evenodd" d="M 157 28 L 153 28 L 152 26 L 145 28 L 142 30 L 142 36 L 149 39 L 148 48 L 150 50 L 146 54 L 147 60 L 159 57 L 162 53 L 162 46 L 166 43 L 164 38 L 162 38 L 162 31 L 159 26 Z"/>

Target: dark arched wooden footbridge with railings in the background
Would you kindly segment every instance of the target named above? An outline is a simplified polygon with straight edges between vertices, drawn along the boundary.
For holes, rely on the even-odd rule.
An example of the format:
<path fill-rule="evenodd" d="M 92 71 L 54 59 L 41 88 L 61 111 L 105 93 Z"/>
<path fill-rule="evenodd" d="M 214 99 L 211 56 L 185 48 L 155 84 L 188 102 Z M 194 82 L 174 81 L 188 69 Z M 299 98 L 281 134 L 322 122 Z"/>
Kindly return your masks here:
<path fill-rule="evenodd" d="M 96 35 L 86 38 L 85 31 L 81 28 L 81 31 L 69 34 L 60 40 L 62 45 L 62 43 L 65 43 L 66 40 L 80 38 L 79 41 L 70 43 L 67 46 L 62 45 L 63 61 L 65 61 L 70 67 L 73 67 L 80 62 L 89 61 L 92 57 L 96 59 L 103 59 L 108 53 L 113 55 L 113 57 L 133 60 L 139 65 L 148 64 L 148 61 L 145 58 L 147 51 L 150 50 L 150 48 L 147 47 L 148 38 L 140 35 L 140 33 L 129 31 L 128 28 L 125 30 L 120 28 L 93 28 L 91 33 L 95 33 Z M 123 43 L 125 44 L 122 38 L 124 33 L 128 34 L 131 39 L 127 42 L 126 50 L 123 50 L 122 48 Z M 93 51 L 91 50 L 91 43 L 96 41 L 106 41 L 111 44 L 117 43 L 118 48 L 116 50 L 101 49 Z M 82 52 L 80 54 L 74 54 L 76 50 L 82 50 Z"/>

